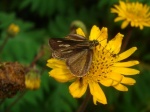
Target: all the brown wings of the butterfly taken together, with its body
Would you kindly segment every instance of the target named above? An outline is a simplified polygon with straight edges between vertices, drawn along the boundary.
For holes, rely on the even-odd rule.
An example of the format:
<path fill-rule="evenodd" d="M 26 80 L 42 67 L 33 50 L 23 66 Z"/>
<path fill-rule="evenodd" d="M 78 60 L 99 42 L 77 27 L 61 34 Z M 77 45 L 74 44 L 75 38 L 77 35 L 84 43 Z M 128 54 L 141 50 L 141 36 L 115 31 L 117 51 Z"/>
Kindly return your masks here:
<path fill-rule="evenodd" d="M 70 34 L 64 39 L 51 38 L 49 45 L 54 58 L 65 59 L 69 70 L 77 77 L 83 77 L 89 71 L 93 51 L 89 41 L 83 36 Z"/>

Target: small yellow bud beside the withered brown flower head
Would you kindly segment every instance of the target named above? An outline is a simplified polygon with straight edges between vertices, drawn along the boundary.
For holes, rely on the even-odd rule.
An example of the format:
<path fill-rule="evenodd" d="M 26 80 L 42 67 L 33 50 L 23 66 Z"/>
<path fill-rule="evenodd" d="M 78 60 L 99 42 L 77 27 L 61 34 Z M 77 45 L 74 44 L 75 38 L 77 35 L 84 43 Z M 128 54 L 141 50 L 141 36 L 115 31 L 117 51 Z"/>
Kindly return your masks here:
<path fill-rule="evenodd" d="M 27 89 L 38 89 L 40 87 L 40 82 L 40 75 L 35 71 L 30 71 L 25 75 L 25 85 Z"/>

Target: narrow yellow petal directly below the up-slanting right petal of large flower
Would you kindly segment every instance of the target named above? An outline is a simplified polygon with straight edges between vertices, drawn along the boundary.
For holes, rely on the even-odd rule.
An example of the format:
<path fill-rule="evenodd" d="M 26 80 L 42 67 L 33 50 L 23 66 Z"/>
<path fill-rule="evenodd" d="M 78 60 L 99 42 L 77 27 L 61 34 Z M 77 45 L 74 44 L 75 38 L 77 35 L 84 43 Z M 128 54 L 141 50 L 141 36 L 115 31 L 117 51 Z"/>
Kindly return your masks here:
<path fill-rule="evenodd" d="M 131 67 L 131 66 L 134 66 L 137 64 L 139 64 L 139 61 L 128 61 L 128 62 L 117 62 L 117 63 L 114 63 L 113 66 L 115 66 L 115 67 Z"/>

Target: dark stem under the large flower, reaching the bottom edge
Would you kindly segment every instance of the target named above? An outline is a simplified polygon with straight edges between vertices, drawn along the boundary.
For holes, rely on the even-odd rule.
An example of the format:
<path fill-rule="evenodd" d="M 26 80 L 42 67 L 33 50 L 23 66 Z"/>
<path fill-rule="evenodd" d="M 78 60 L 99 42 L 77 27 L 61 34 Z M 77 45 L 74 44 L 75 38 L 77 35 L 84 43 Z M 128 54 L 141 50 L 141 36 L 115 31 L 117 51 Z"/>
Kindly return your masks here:
<path fill-rule="evenodd" d="M 90 93 L 90 90 L 88 89 L 86 96 L 85 96 L 85 99 L 83 100 L 82 104 L 78 108 L 77 112 L 84 112 L 85 111 L 85 108 L 87 107 L 87 104 L 88 104 L 88 101 L 90 100 L 90 98 L 91 98 L 91 93 Z"/>

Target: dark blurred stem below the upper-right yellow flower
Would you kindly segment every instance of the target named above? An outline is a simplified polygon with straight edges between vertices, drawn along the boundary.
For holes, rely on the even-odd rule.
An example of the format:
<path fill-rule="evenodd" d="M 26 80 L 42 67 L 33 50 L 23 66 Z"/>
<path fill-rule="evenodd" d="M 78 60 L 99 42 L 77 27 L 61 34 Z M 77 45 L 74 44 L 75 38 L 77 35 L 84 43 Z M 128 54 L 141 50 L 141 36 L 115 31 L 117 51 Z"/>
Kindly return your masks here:
<path fill-rule="evenodd" d="M 128 33 L 127 33 L 127 36 L 124 38 L 125 41 L 124 41 L 124 43 L 123 43 L 123 45 L 122 45 L 121 51 L 124 51 L 124 50 L 126 49 L 126 47 L 127 47 L 127 45 L 128 45 L 128 42 L 129 42 L 129 40 L 130 40 L 131 35 L 132 35 L 132 28 L 129 28 Z"/>

